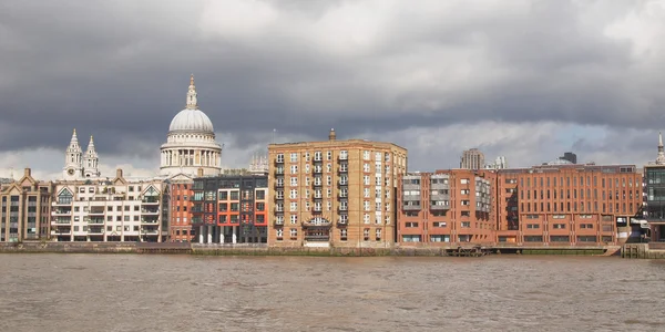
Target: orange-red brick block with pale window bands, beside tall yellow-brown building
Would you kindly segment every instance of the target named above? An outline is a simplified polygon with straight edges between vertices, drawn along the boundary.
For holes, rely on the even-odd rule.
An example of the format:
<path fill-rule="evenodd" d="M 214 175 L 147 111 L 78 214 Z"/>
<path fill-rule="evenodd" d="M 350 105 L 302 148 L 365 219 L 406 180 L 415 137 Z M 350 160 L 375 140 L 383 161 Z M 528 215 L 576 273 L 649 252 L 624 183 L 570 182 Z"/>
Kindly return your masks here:
<path fill-rule="evenodd" d="M 493 175 L 469 169 L 400 175 L 398 243 L 493 243 Z"/>

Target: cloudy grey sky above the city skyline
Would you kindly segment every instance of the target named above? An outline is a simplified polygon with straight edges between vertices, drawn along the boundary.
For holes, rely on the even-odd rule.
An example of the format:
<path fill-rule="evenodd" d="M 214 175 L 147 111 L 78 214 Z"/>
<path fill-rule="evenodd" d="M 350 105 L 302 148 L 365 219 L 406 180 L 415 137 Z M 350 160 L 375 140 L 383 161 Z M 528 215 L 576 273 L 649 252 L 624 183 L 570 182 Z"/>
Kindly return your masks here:
<path fill-rule="evenodd" d="M 226 167 L 331 127 L 406 147 L 409 170 L 473 147 L 640 167 L 663 40 L 665 0 L 3 1 L 0 176 L 61 177 L 73 128 L 103 176 L 156 174 L 191 73 Z"/>

